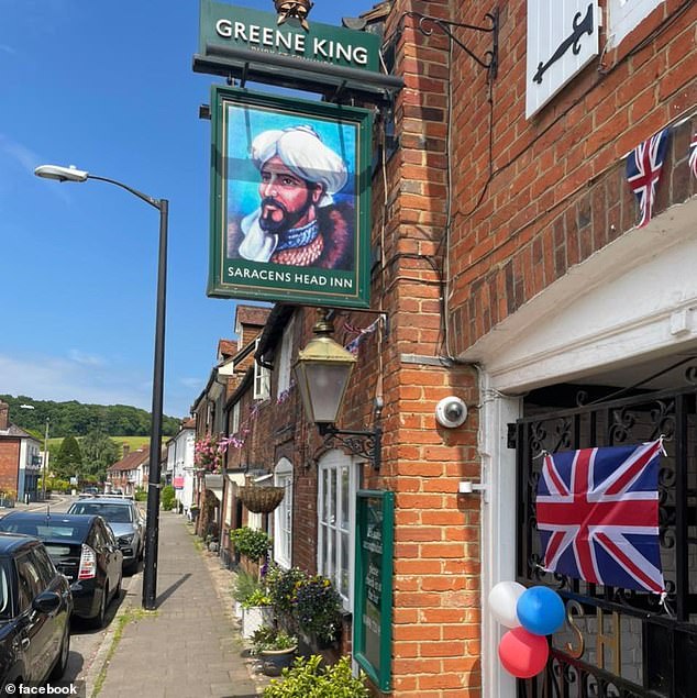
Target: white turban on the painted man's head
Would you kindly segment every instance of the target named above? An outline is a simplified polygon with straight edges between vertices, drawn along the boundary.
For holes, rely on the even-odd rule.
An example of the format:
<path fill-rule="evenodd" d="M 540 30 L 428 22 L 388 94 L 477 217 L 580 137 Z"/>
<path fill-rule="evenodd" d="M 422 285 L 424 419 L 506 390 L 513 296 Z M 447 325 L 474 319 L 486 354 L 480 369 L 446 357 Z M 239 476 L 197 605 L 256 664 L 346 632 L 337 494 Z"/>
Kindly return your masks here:
<path fill-rule="evenodd" d="M 311 126 L 264 131 L 252 142 L 252 162 L 257 169 L 276 155 L 297 177 L 323 185 L 324 196 L 318 206 L 333 203 L 332 195 L 341 191 L 348 179 L 344 160 Z"/>

